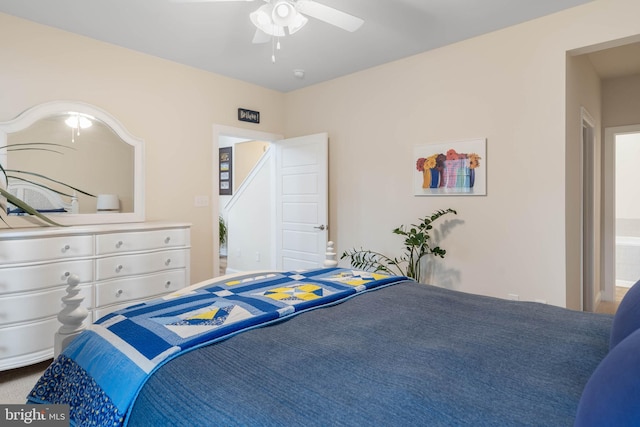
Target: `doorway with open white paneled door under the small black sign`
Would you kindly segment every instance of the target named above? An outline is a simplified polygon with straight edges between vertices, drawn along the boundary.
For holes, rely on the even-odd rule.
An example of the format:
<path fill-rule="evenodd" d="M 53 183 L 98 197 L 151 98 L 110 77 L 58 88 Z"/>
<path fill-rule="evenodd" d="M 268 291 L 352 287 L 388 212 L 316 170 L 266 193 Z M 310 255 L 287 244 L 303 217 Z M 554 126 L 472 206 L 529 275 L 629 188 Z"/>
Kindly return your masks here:
<path fill-rule="evenodd" d="M 224 199 L 215 195 L 219 203 L 213 209 L 216 222 L 221 213 L 228 219 L 225 273 L 322 266 L 328 240 L 328 134 L 284 140 L 217 126 L 214 136 L 214 188 L 226 193 Z M 240 187 L 230 192 L 231 182 L 238 182 L 236 167 L 230 163 L 236 164 L 232 160 L 236 147 L 247 140 L 265 141 L 269 149 Z M 229 141 L 233 151 L 228 145 L 222 148 Z M 224 162 L 218 158 L 223 152 Z M 219 256 L 220 228 L 214 227 L 216 274 L 224 261 Z"/>

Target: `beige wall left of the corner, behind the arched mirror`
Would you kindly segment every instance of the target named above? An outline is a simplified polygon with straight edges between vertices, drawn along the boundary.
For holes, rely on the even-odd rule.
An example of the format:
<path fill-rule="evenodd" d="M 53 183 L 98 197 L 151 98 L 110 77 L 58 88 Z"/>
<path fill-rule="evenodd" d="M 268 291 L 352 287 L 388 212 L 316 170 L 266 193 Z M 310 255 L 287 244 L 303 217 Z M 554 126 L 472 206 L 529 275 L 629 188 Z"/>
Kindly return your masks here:
<path fill-rule="evenodd" d="M 193 224 L 191 280 L 212 276 L 212 124 L 282 133 L 284 95 L 0 14 L 0 120 L 45 101 L 79 100 L 115 116 L 146 148 L 146 217 Z M 216 193 L 217 194 L 217 193 Z M 217 218 L 216 222 L 217 224 Z M 217 233 L 217 231 L 216 231 Z"/>

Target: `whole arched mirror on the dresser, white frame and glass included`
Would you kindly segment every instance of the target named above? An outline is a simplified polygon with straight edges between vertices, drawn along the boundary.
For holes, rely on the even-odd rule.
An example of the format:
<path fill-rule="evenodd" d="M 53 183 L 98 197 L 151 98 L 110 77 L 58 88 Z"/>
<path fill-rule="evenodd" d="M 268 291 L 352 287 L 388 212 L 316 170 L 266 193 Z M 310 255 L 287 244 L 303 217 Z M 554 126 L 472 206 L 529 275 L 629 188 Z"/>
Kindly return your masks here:
<path fill-rule="evenodd" d="M 144 221 L 144 142 L 100 108 L 54 101 L 0 123 L 0 163 L 3 188 L 59 224 Z M 5 218 L 34 222 L 11 203 Z"/>

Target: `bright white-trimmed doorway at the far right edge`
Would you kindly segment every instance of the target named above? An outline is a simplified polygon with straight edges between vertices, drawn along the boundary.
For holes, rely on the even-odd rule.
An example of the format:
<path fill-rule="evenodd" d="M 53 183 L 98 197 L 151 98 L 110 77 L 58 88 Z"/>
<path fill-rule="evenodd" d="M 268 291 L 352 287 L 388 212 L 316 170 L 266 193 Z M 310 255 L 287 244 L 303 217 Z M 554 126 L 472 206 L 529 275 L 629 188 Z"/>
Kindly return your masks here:
<path fill-rule="evenodd" d="M 604 297 L 615 304 L 640 279 L 640 124 L 605 129 Z"/>

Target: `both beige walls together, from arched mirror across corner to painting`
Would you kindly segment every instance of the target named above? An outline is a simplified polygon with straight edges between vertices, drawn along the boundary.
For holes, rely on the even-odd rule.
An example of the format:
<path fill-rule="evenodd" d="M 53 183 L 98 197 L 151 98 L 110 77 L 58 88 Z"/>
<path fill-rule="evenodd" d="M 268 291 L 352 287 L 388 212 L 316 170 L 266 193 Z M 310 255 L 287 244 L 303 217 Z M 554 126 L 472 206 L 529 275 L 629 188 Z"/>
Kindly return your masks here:
<path fill-rule="evenodd" d="M 452 207 L 433 283 L 575 308 L 579 165 L 567 109 L 575 115 L 578 98 L 567 99 L 566 53 L 640 34 L 638 16 L 637 0 L 596 0 L 283 95 L 0 15 L 0 119 L 79 99 L 144 138 L 147 217 L 194 224 L 194 281 L 211 274 L 211 211 L 193 207 L 212 194 L 211 124 L 241 126 L 243 106 L 269 113 L 259 130 L 329 132 L 339 250 L 396 254 L 393 228 Z M 412 196 L 414 145 L 477 137 L 488 140 L 486 197 Z"/>

